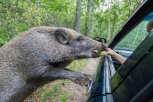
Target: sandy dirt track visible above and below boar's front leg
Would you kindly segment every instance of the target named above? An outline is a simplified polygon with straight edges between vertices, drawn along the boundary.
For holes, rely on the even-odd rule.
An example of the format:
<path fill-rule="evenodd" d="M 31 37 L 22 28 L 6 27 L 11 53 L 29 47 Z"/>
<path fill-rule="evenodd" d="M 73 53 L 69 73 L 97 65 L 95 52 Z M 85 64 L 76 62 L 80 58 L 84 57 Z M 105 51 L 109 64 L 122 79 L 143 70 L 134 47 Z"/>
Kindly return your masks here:
<path fill-rule="evenodd" d="M 82 70 L 83 73 L 93 75 L 96 72 L 98 58 L 96 59 L 89 59 L 87 65 Z M 75 83 L 70 83 L 69 85 L 63 88 L 64 90 L 71 93 L 71 96 L 68 99 L 68 102 L 86 102 L 87 95 L 86 95 L 86 87 L 81 87 Z"/>

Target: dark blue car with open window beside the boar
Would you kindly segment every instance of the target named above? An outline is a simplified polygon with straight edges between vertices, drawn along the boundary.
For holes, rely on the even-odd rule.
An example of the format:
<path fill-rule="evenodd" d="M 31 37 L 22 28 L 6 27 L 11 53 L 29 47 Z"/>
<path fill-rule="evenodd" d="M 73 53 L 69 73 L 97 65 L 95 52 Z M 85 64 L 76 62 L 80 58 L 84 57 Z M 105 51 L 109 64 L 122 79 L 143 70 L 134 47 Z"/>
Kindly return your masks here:
<path fill-rule="evenodd" d="M 153 30 L 146 32 L 152 5 L 153 0 L 144 1 L 109 44 L 127 60 L 121 65 L 109 55 L 101 57 L 88 102 L 153 102 Z M 136 37 L 123 46 L 124 39 Z"/>

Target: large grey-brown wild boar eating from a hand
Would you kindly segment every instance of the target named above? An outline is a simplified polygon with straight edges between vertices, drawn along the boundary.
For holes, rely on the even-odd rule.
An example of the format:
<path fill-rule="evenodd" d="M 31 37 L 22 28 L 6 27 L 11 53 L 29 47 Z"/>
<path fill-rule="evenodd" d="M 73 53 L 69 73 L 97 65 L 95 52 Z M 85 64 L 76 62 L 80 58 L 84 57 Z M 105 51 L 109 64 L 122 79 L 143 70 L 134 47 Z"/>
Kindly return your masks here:
<path fill-rule="evenodd" d="M 0 48 L 0 102 L 21 102 L 56 79 L 87 85 L 90 76 L 66 66 L 74 59 L 98 57 L 105 46 L 68 28 L 34 27 Z"/>

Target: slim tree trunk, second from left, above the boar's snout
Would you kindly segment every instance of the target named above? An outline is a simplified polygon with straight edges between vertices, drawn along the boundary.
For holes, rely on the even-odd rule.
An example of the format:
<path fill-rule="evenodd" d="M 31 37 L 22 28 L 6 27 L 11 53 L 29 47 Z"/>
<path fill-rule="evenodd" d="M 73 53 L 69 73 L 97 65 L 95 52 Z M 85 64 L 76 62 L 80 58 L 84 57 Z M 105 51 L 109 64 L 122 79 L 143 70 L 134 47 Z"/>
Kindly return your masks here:
<path fill-rule="evenodd" d="M 87 5 L 87 15 L 86 15 L 86 22 L 85 22 L 85 35 L 90 35 L 90 13 L 91 13 L 91 0 L 88 0 Z"/>

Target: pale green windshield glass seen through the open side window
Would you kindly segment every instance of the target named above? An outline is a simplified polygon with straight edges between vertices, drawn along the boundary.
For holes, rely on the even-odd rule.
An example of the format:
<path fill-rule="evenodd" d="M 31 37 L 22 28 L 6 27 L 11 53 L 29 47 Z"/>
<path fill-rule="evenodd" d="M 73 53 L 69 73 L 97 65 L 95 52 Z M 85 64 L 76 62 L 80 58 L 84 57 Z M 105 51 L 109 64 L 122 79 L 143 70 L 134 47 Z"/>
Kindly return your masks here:
<path fill-rule="evenodd" d="M 147 24 L 147 20 L 143 20 L 139 23 L 132 31 L 129 32 L 129 34 L 127 34 L 126 37 L 124 37 L 122 41 L 117 44 L 115 49 L 135 50 L 148 35 L 148 32 L 146 31 Z"/>

